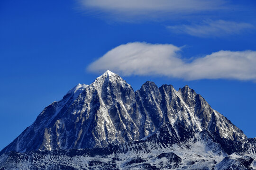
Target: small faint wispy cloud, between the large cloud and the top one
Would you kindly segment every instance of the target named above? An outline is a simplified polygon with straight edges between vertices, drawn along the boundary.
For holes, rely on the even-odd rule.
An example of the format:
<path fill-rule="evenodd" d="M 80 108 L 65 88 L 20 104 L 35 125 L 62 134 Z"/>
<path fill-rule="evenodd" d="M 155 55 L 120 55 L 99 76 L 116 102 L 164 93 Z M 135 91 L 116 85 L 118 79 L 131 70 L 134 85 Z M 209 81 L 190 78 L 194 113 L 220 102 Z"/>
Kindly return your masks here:
<path fill-rule="evenodd" d="M 174 33 L 190 34 L 199 37 L 225 36 L 230 34 L 240 34 L 249 29 L 255 28 L 252 24 L 232 21 L 204 21 L 201 24 L 167 26 Z"/>

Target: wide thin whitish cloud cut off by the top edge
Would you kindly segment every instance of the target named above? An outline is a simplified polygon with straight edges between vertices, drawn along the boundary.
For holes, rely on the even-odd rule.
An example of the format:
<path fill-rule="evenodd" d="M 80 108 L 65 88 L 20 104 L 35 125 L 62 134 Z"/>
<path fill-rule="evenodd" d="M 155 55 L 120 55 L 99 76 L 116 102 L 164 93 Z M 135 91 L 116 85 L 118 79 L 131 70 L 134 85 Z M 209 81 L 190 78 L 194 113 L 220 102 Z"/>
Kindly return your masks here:
<path fill-rule="evenodd" d="M 123 17 L 172 17 L 226 8 L 226 0 L 79 0 L 87 11 L 118 19 Z"/>

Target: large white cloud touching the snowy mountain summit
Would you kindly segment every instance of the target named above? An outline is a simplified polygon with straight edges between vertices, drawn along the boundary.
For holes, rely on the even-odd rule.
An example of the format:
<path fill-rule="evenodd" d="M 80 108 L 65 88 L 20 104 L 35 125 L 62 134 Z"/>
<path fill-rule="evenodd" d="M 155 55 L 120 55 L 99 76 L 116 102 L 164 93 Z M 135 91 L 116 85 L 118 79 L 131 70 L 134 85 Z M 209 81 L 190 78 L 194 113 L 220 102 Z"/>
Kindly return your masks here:
<path fill-rule="evenodd" d="M 256 51 L 218 51 L 190 62 L 179 51 L 172 44 L 131 42 L 108 51 L 87 69 L 97 73 L 110 69 L 124 76 L 256 80 Z"/>

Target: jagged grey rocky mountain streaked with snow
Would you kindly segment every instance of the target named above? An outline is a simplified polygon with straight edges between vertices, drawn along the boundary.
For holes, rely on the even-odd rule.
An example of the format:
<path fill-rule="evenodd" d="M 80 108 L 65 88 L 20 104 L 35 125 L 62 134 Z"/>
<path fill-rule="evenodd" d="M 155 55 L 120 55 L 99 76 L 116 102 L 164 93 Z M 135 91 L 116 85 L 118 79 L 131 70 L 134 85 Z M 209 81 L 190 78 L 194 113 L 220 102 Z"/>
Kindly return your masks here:
<path fill-rule="evenodd" d="M 78 150 L 67 149 L 81 148 L 87 148 L 81 150 L 82 157 L 95 151 L 94 148 L 102 152 L 108 150 L 106 155 L 116 154 L 111 159 L 116 159 L 112 163 L 119 168 L 137 166 L 140 169 L 174 169 L 181 164 L 216 168 L 222 163 L 242 167 L 250 160 L 239 161 L 238 156 L 228 155 L 255 155 L 256 139 L 248 139 L 238 127 L 213 110 L 200 94 L 187 85 L 176 91 L 172 85 L 158 88 L 154 82 L 146 82 L 134 92 L 131 85 L 108 70 L 91 85 L 78 84 L 61 101 L 47 106 L 30 127 L 0 152 L 0 161 L 4 165 L 7 160 L 21 159 L 22 156 L 22 159 L 29 157 L 26 160 L 30 162 L 29 159 L 33 160 L 33 156 L 39 155 L 44 162 L 47 161 L 44 158 L 46 154 L 52 156 L 60 153 L 69 162 L 73 159 L 70 152 Z M 202 148 L 201 152 L 208 156 L 213 154 L 225 159 L 212 156 L 209 161 L 205 160 L 208 159 L 205 155 L 201 159 L 200 153 L 200 159 L 194 159 L 193 153 L 188 152 Z M 162 153 L 153 154 L 153 150 Z M 11 151 L 18 153 L 7 153 Z M 172 151 L 187 153 L 193 159 L 184 161 L 184 156 Z M 122 158 L 122 155 L 134 152 L 136 157 L 133 155 L 129 161 Z M 103 157 L 102 154 L 99 155 Z M 145 157 L 145 154 L 152 158 Z M 252 157 L 254 161 L 255 157 Z M 158 162 L 155 166 L 152 165 L 153 158 Z M 109 166 L 109 161 L 103 164 Z M 205 161 L 208 163 L 203 163 Z M 253 161 L 245 167 L 253 167 Z M 81 166 L 91 165 L 96 169 L 101 164 L 102 161 L 91 158 L 91 161 Z"/>

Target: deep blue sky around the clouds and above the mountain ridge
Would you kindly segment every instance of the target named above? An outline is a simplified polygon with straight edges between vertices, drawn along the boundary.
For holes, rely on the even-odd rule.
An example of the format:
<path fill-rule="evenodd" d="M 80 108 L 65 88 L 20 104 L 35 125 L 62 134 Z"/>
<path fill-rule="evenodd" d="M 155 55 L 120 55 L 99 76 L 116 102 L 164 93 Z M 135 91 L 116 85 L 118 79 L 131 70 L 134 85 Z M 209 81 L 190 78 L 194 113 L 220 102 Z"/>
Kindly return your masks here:
<path fill-rule="evenodd" d="M 256 51 L 255 0 L 230 1 L 226 8 L 210 12 L 174 12 L 174 17 L 150 14 L 147 18 L 145 14 L 129 16 L 101 8 L 95 12 L 75 0 L 1 0 L 0 150 L 30 126 L 47 105 L 62 99 L 73 86 L 91 84 L 100 74 L 86 68 L 121 44 L 147 42 L 184 46 L 181 51 L 184 59 L 220 50 Z M 232 32 L 229 28 L 223 34 L 221 28 L 200 36 L 167 28 L 207 25 L 219 20 L 238 23 L 241 31 Z M 246 23 L 245 27 L 239 23 Z M 177 90 L 189 85 L 248 137 L 256 137 L 255 78 L 189 81 L 165 75 L 122 77 L 134 90 L 147 80 L 158 86 L 171 84 Z"/>

